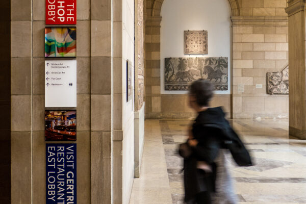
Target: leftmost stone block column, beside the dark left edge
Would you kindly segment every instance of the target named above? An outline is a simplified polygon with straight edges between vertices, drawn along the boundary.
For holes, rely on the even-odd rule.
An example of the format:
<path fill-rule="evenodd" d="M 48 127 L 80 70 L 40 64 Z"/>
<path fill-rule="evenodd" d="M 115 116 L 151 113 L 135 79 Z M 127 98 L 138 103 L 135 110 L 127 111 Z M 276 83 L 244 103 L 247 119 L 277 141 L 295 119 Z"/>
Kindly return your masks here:
<path fill-rule="evenodd" d="M 31 203 L 32 1 L 11 1 L 11 203 Z"/>

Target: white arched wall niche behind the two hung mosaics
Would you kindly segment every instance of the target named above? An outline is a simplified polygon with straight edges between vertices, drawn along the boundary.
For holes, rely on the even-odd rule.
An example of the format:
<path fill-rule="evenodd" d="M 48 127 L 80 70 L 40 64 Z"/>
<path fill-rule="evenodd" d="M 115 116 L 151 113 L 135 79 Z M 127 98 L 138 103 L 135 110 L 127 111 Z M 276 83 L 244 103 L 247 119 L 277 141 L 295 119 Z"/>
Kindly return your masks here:
<path fill-rule="evenodd" d="M 165 91 L 165 58 L 228 57 L 228 90 L 231 93 L 231 6 L 228 0 L 164 0 L 161 10 L 161 93 Z M 184 55 L 184 31 L 208 31 L 208 55 Z"/>

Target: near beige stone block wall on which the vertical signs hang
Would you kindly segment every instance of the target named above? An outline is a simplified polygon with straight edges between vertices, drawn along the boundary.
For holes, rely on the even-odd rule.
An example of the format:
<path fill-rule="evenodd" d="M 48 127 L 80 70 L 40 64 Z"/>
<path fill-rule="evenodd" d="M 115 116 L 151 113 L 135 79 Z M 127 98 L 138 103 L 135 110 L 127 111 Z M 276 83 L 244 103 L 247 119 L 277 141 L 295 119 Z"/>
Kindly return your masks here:
<path fill-rule="evenodd" d="M 134 119 L 134 105 L 126 111 L 125 102 L 122 2 L 77 1 L 78 203 L 122 203 L 123 138 L 133 138 Z M 45 1 L 11 0 L 11 5 L 12 203 L 43 204 Z M 130 42 L 133 50 L 134 39 Z M 132 131 L 124 130 L 123 122 Z M 127 180 L 131 183 L 131 176 Z"/>

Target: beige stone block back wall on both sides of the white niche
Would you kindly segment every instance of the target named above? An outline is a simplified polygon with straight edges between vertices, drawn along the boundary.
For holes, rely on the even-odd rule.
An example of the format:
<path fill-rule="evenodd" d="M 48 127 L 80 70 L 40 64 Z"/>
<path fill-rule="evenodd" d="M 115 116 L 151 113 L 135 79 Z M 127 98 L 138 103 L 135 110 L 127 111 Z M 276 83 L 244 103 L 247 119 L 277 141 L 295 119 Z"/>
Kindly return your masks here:
<path fill-rule="evenodd" d="M 266 94 L 266 73 L 281 71 L 288 65 L 286 0 L 229 2 L 233 21 L 232 94 L 215 95 L 211 106 L 223 106 L 228 117 L 234 118 L 288 118 L 288 95 Z M 160 94 L 162 3 L 147 1 L 146 117 L 191 117 L 194 114 L 187 107 L 187 95 Z M 257 84 L 263 87 L 256 88 Z M 238 85 L 243 86 L 243 92 L 238 92 Z"/>

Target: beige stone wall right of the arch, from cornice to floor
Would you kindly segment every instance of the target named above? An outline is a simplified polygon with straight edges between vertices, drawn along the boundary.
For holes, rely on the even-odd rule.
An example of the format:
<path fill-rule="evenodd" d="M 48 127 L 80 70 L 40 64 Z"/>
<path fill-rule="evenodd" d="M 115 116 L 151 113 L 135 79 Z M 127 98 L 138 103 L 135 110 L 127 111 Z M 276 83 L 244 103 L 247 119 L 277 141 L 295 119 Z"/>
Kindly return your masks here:
<path fill-rule="evenodd" d="M 288 118 L 288 95 L 266 94 L 267 72 L 282 71 L 288 65 L 287 18 L 232 20 L 233 117 Z"/>

